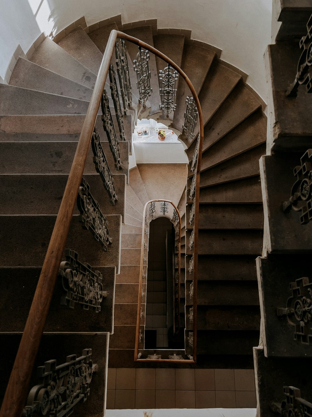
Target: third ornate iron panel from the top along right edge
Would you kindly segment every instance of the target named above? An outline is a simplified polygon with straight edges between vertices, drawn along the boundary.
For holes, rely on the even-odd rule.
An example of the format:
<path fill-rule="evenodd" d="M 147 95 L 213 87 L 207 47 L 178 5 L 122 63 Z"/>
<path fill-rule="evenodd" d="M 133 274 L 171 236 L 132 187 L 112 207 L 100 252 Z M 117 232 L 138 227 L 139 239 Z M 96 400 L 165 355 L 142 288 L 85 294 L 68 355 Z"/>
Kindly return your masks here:
<path fill-rule="evenodd" d="M 292 296 L 287 299 L 286 308 L 277 308 L 277 316 L 287 316 L 295 326 L 294 340 L 310 344 L 312 338 L 312 282 L 307 276 L 290 283 Z"/>

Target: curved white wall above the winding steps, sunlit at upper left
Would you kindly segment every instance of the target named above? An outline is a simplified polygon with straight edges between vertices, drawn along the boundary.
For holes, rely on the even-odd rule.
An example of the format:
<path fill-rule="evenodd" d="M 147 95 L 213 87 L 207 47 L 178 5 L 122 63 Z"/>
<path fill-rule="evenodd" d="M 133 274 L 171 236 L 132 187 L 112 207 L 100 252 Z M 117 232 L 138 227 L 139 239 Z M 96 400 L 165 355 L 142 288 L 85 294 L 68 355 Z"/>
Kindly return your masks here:
<path fill-rule="evenodd" d="M 267 101 L 263 54 L 272 0 L 0 0 L 0 6 L 2 78 L 19 43 L 26 52 L 43 31 L 56 34 L 82 16 L 92 25 L 121 14 L 122 23 L 157 18 L 158 28 L 192 30 L 193 39 L 222 49 L 221 59 L 249 74 L 248 84 Z"/>

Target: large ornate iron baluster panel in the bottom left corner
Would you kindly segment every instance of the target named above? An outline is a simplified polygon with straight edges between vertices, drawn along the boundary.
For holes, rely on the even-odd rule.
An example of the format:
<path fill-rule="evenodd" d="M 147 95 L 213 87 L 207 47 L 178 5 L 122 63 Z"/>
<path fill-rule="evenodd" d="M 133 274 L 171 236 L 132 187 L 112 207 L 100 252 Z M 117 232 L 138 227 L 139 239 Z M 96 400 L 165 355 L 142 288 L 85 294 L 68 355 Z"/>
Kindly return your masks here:
<path fill-rule="evenodd" d="M 22 417 L 35 415 L 69 416 L 78 402 L 85 402 L 90 394 L 89 384 L 97 366 L 92 364 L 92 350 L 84 349 L 82 356 L 69 355 L 66 362 L 56 360 L 38 367 L 38 384 L 28 395 Z"/>

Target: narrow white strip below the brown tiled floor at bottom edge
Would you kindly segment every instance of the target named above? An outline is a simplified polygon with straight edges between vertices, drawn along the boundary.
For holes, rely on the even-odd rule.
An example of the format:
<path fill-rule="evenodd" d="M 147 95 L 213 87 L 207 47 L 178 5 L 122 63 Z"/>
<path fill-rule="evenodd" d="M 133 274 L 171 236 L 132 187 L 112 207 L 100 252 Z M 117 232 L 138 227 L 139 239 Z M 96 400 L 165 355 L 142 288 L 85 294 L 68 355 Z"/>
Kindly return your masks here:
<path fill-rule="evenodd" d="M 106 410 L 105 417 L 255 417 L 255 408 Z"/>

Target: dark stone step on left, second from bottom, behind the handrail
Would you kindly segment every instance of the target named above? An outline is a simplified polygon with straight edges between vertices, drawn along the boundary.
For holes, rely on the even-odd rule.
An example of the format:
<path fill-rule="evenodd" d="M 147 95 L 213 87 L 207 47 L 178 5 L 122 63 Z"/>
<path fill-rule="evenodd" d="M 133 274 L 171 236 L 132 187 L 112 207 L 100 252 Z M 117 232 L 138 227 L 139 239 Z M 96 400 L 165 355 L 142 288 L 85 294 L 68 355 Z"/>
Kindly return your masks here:
<path fill-rule="evenodd" d="M 65 259 L 65 258 L 64 258 Z M 79 257 L 78 257 L 79 260 Z M 49 314 L 45 322 L 45 332 L 112 332 L 114 328 L 114 290 L 115 266 L 92 266 L 93 271 L 102 274 L 103 291 L 108 291 L 103 297 L 101 311 L 96 312 L 92 306 L 89 310 L 82 309 L 77 303 L 74 308 L 61 305 L 61 298 L 66 296 L 62 286 L 62 278 L 58 277 L 52 296 Z M 3 297 L 0 306 L 0 332 L 22 332 L 35 294 L 40 268 L 0 268 L 3 287 Z M 18 284 L 17 284 L 18 283 Z M 15 306 L 12 309 L 12 297 L 15 296 Z M 66 316 L 66 320 L 64 317 Z"/>

